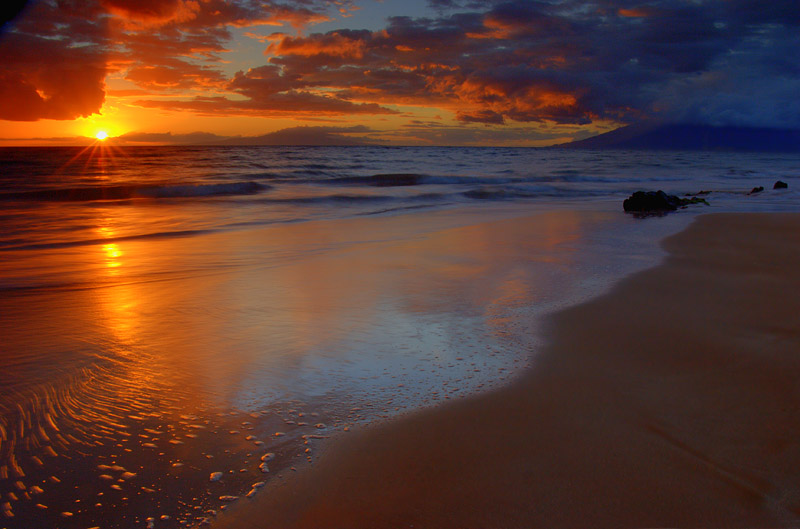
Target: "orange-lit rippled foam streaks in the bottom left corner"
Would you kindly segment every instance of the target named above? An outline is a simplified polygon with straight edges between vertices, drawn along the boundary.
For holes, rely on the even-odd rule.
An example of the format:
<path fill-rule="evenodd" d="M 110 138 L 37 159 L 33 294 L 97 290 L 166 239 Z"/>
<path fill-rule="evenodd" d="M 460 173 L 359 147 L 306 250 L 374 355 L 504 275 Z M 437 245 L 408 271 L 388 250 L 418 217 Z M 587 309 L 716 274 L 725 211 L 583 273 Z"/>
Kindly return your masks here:
<path fill-rule="evenodd" d="M 201 467 L 213 456 L 190 445 L 240 452 L 240 439 L 221 437 L 220 443 L 216 436 L 235 417 L 193 408 L 185 394 L 157 376 L 146 377 L 144 385 L 141 376 L 120 376 L 121 367 L 96 365 L 24 393 L 2 394 L 3 527 L 136 525 L 131 521 L 145 526 L 156 515 L 159 527 L 178 527 L 180 521 L 199 523 L 213 511 L 213 506 L 191 501 L 207 495 L 198 490 L 204 480 L 194 474 L 202 475 L 206 469 Z M 150 371 L 155 375 L 157 369 Z M 182 468 L 184 461 L 191 471 Z M 257 463 L 254 459 L 249 476 L 256 475 Z M 186 494 L 165 495 L 167 481 L 181 477 L 190 478 L 180 487 Z M 246 492 L 251 484 L 239 483 L 242 479 L 228 479 L 224 492 L 232 486 Z"/>

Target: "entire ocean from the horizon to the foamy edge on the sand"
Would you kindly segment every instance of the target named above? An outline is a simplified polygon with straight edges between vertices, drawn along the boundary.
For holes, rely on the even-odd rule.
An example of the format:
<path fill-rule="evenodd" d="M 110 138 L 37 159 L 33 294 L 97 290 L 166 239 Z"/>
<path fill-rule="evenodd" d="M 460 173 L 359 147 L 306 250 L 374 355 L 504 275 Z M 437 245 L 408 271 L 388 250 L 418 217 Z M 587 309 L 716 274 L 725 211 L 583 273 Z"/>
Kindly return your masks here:
<path fill-rule="evenodd" d="M 797 154 L 98 144 L 0 168 L 3 528 L 213 521 L 330 436 L 535 369 L 547 314 L 694 216 L 800 210 Z M 622 212 L 657 189 L 708 205 Z"/>

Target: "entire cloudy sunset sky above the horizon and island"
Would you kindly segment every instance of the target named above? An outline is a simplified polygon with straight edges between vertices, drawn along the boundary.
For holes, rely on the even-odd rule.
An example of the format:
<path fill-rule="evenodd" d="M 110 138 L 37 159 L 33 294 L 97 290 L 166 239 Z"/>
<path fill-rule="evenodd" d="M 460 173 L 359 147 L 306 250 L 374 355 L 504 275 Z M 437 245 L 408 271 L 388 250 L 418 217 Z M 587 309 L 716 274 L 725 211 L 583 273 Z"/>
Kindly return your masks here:
<path fill-rule="evenodd" d="M 798 0 L 34 0 L 0 30 L 0 145 L 800 128 L 798 49 Z"/>

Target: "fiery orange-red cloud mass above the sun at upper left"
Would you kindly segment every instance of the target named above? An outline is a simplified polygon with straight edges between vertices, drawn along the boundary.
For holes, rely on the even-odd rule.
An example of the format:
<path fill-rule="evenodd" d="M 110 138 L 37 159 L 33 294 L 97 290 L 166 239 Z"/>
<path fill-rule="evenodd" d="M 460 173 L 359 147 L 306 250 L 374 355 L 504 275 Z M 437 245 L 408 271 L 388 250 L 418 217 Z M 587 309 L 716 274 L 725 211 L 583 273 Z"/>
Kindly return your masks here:
<path fill-rule="evenodd" d="M 303 104 L 308 112 L 386 113 L 378 105 L 296 87 L 250 105 L 225 97 L 232 80 L 223 73 L 221 55 L 232 28 L 297 29 L 329 20 L 331 9 L 353 8 L 349 0 L 39 0 L 0 39 L 0 119 L 70 120 L 99 113 L 109 73 L 151 93 L 189 101 L 206 96 L 195 104 L 200 109 L 208 107 L 209 93 L 217 93 L 222 108 L 236 114 L 281 105 L 303 111 Z"/>

